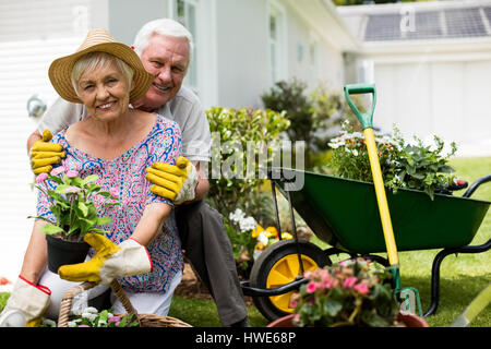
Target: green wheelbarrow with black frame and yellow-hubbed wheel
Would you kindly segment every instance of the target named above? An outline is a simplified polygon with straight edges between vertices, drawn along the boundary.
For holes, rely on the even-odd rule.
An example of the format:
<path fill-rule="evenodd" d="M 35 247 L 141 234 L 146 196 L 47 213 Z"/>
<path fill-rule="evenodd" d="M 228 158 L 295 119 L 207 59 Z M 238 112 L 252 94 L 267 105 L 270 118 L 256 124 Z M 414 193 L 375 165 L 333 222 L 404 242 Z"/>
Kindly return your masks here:
<path fill-rule="evenodd" d="M 303 179 L 298 190 L 292 183 Z M 242 281 L 246 296 L 252 296 L 255 306 L 270 321 L 294 311 L 289 298 L 294 290 L 307 282 L 304 272 L 331 265 L 331 256 L 347 253 L 362 256 L 388 266 L 388 260 L 374 253 L 386 252 L 382 224 L 373 183 L 339 177 L 276 168 L 268 172 L 277 230 L 282 231 L 276 189 L 289 203 L 294 239 L 282 240 L 266 250 L 254 262 L 248 281 Z M 462 197 L 399 189 L 387 191 L 398 251 L 441 250 L 433 260 L 431 273 L 431 303 L 423 316 L 434 314 L 440 297 L 440 265 L 454 253 L 480 253 L 491 248 L 491 239 L 480 245 L 469 245 L 476 236 L 490 202 L 471 198 L 471 194 L 491 174 L 474 182 Z M 292 190 L 294 188 L 294 190 Z M 332 248 L 322 250 L 297 234 L 294 208 L 314 234 Z M 280 234 L 279 234 L 280 236 Z"/>

